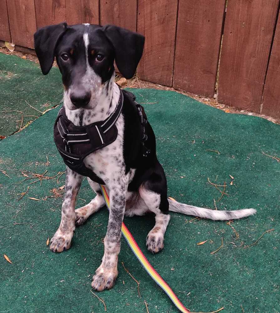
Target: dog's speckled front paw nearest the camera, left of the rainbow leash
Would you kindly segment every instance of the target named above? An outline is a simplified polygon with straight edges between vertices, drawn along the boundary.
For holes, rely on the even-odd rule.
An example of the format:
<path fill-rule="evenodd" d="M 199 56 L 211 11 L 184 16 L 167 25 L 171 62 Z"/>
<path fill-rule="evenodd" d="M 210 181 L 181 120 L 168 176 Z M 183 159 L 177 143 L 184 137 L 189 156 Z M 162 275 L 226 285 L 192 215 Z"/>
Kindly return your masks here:
<path fill-rule="evenodd" d="M 102 265 L 96 269 L 95 275 L 92 277 L 91 287 L 94 290 L 102 291 L 104 289 L 111 289 L 115 285 L 118 275 L 116 269 L 104 269 Z"/>

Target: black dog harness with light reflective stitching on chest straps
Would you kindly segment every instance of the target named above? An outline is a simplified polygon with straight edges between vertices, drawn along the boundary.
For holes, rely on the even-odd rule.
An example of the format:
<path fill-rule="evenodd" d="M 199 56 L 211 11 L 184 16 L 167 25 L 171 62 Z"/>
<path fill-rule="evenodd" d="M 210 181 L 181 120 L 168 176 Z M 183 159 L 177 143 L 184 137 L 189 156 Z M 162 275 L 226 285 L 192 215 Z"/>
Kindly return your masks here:
<path fill-rule="evenodd" d="M 105 185 L 103 180 L 85 166 L 84 159 L 92 152 L 104 148 L 116 140 L 118 130 L 115 124 L 122 112 L 124 96 L 129 98 L 129 103 L 134 105 L 135 110 L 138 111 L 143 156 L 148 156 L 151 152 L 144 144 L 147 140 L 147 134 L 145 134 L 147 116 L 143 107 L 135 101 L 135 96 L 132 93 L 126 90 L 120 91 L 116 109 L 105 121 L 98 121 L 86 126 L 75 126 L 68 120 L 65 108 L 62 107 L 54 124 L 54 142 L 64 163 L 74 172 L 87 176 L 102 185 Z"/>

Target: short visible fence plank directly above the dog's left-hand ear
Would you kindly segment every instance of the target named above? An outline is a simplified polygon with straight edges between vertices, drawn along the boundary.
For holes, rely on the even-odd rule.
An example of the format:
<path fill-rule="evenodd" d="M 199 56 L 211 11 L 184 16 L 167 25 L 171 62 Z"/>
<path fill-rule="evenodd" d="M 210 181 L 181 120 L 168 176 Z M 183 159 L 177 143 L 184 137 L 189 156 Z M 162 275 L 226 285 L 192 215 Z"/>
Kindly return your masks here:
<path fill-rule="evenodd" d="M 37 28 L 66 20 L 65 0 L 34 0 Z"/>

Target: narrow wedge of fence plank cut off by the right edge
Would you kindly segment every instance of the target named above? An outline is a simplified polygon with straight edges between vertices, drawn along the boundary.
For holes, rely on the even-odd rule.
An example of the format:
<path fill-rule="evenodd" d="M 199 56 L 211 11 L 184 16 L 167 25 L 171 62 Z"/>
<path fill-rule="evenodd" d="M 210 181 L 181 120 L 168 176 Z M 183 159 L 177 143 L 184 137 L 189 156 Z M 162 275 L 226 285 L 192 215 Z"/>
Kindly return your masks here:
<path fill-rule="evenodd" d="M 275 30 L 260 113 L 280 118 L 280 15 Z"/>

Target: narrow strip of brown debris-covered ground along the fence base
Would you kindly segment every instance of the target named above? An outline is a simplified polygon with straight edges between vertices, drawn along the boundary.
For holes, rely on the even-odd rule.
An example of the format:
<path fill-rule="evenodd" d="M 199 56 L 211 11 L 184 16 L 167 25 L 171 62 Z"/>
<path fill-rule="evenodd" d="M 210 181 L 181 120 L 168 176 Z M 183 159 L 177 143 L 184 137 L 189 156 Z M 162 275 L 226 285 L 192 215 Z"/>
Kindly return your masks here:
<path fill-rule="evenodd" d="M 17 48 L 17 46 L 16 46 L 16 48 Z M 29 53 L 32 52 L 33 53 L 34 50 L 26 49 L 26 52 L 29 52 Z M 35 63 L 39 63 L 38 58 L 35 56 L 35 52 L 34 52 L 34 54 L 27 54 L 27 53 L 16 51 L 16 49 L 13 52 L 10 52 L 8 49 L 6 49 L 5 46 L 3 47 L 3 45 L 0 45 L 0 53 L 17 55 L 18 57 L 20 57 L 22 59 L 28 59 L 28 60 L 33 61 Z M 54 66 L 57 66 L 55 61 L 54 61 Z M 119 82 L 119 80 L 121 80 L 121 81 Z M 122 87 L 154 88 L 154 89 L 160 89 L 160 90 L 176 91 L 176 92 L 178 92 L 180 94 L 187 95 L 187 96 L 189 96 L 189 97 L 191 97 L 191 98 L 193 98 L 193 99 L 195 99 L 195 100 L 197 100 L 199 102 L 202 102 L 202 103 L 204 103 L 206 105 L 210 105 L 210 106 L 215 107 L 215 108 L 217 108 L 219 110 L 223 110 L 226 113 L 259 116 L 259 117 L 262 117 L 262 118 L 264 118 L 264 119 L 266 119 L 268 121 L 271 121 L 272 123 L 280 124 L 280 119 L 276 119 L 276 118 L 273 118 L 273 117 L 270 117 L 270 116 L 266 116 L 264 114 L 253 113 L 253 112 L 250 112 L 250 111 L 241 110 L 241 109 L 237 109 L 237 108 L 234 108 L 234 107 L 231 107 L 231 106 L 228 106 L 228 105 L 224 105 L 224 104 L 218 103 L 216 101 L 216 99 L 214 99 L 214 98 L 206 98 L 204 96 L 194 95 L 194 94 L 191 94 L 189 92 L 185 92 L 183 90 L 176 90 L 176 89 L 171 88 L 171 87 L 166 87 L 166 86 L 155 84 L 155 83 L 151 83 L 151 82 L 148 82 L 148 81 L 145 81 L 145 80 L 140 80 L 140 79 L 138 79 L 137 74 L 132 79 L 125 80 L 124 78 L 121 77 L 121 75 L 119 73 L 117 73 L 117 75 L 116 75 L 116 82 L 119 83 L 119 85 L 121 85 Z"/>

